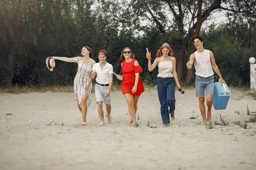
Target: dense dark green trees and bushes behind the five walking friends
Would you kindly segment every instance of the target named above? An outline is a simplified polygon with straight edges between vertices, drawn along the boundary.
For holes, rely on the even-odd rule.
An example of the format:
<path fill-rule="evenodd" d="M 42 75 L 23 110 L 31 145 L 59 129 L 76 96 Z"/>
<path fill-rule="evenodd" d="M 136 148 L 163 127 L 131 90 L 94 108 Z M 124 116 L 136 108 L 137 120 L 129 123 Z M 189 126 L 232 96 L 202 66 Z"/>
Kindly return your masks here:
<path fill-rule="evenodd" d="M 202 30 L 220 10 L 229 22 Z M 254 0 L 0 0 L 0 86 L 72 84 L 76 64 L 57 60 L 50 72 L 45 59 L 78 56 L 83 46 L 91 47 L 96 61 L 97 51 L 105 49 L 116 73 L 122 49 L 130 47 L 142 79 L 155 85 L 157 69 L 147 71 L 146 47 L 154 59 L 164 42 L 173 48 L 179 78 L 189 82 L 194 73 L 184 64 L 195 50 L 191 37 L 198 34 L 223 77 L 246 84 L 248 58 L 255 56 L 255 11 Z"/>

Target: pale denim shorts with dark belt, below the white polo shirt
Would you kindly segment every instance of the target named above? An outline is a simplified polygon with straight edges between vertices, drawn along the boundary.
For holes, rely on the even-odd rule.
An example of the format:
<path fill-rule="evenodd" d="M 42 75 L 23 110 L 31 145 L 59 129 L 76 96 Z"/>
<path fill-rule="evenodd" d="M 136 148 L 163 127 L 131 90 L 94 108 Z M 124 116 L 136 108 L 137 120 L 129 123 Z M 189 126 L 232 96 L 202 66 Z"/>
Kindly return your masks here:
<path fill-rule="evenodd" d="M 96 103 L 98 102 L 103 102 L 104 104 L 111 103 L 111 93 L 108 97 L 106 97 L 108 86 L 100 86 L 99 84 L 95 84 L 94 91 L 95 91 Z"/>

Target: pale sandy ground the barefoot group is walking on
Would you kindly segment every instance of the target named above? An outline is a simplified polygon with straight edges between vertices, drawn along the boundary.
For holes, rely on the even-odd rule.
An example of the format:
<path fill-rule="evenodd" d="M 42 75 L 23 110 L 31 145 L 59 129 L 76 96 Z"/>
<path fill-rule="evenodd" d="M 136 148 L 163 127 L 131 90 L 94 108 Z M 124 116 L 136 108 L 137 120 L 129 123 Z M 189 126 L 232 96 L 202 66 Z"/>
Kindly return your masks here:
<path fill-rule="evenodd" d="M 164 126 L 157 90 L 145 89 L 137 127 L 128 126 L 121 91 L 111 94 L 113 124 L 105 117 L 104 126 L 98 126 L 94 93 L 87 126 L 81 126 L 73 93 L 0 94 L 0 169 L 255 170 L 256 123 L 246 129 L 235 124 L 252 117 L 247 106 L 256 114 L 250 92 L 230 89 L 227 109 L 212 108 L 212 126 L 203 126 L 195 90 L 183 90 L 175 92 L 176 119 Z M 227 126 L 214 124 L 220 115 Z"/>

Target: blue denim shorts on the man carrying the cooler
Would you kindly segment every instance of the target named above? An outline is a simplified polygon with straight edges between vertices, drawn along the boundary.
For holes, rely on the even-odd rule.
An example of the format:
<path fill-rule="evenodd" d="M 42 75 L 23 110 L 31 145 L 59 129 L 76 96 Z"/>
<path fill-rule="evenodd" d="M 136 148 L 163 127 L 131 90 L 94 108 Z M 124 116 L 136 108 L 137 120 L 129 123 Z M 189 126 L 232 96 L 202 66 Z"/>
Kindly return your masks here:
<path fill-rule="evenodd" d="M 195 97 L 204 97 L 204 89 L 206 95 L 213 95 L 214 76 L 201 77 L 195 76 Z"/>

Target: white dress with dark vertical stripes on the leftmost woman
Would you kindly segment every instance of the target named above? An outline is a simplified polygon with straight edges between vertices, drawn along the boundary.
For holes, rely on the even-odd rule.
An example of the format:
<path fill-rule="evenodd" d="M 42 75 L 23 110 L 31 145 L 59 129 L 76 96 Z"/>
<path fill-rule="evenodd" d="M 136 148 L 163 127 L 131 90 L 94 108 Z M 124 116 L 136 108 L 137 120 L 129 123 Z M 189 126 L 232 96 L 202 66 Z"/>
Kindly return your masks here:
<path fill-rule="evenodd" d="M 77 94 L 79 99 L 79 105 L 81 106 L 83 95 L 85 95 L 85 86 L 88 84 L 90 77 L 88 76 L 88 71 L 92 71 L 92 66 L 85 64 L 82 61 L 78 61 L 77 57 L 73 57 L 74 62 L 78 64 L 76 77 L 74 78 L 74 94 Z M 87 104 L 90 106 L 91 100 L 91 91 L 92 91 L 92 83 L 89 86 L 88 92 L 89 97 L 87 99 Z M 75 96 L 76 99 L 76 96 Z"/>

